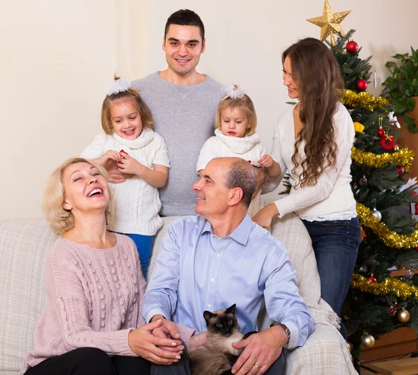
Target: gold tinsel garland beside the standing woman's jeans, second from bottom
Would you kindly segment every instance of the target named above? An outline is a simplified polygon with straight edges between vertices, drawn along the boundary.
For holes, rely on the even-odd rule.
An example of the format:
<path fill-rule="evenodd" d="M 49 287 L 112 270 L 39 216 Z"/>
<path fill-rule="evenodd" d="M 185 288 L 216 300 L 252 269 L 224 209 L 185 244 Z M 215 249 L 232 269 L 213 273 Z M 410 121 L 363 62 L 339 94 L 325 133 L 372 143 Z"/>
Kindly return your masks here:
<path fill-rule="evenodd" d="M 412 234 L 398 234 L 387 228 L 385 223 L 380 223 L 378 219 L 372 215 L 371 209 L 357 202 L 357 215 L 359 221 L 366 228 L 370 228 L 380 240 L 391 248 L 416 248 L 418 246 L 418 230 Z"/>

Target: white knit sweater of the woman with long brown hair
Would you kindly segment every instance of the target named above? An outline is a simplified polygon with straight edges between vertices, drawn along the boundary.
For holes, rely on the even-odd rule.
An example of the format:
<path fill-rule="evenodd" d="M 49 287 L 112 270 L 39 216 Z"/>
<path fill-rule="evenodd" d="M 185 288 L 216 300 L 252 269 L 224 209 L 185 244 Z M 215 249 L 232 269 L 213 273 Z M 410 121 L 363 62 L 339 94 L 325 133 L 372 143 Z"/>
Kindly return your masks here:
<path fill-rule="evenodd" d="M 339 103 L 334 114 L 334 136 L 337 147 L 335 168 L 327 168 L 318 178 L 316 185 L 302 188 L 299 186 L 295 189 L 302 167 L 297 168 L 296 175 L 291 173 L 294 168 L 292 155 L 295 147 L 293 109 L 294 106 L 291 106 L 274 128 L 272 154 L 280 165 L 281 177 L 286 172 L 291 174 L 289 182 L 292 186 L 288 196 L 274 202 L 279 209 L 279 217 L 289 212 L 296 212 L 300 218 L 308 221 L 355 217 L 355 199 L 350 187 L 351 147 L 353 147 L 355 131 L 350 113 L 343 104 Z M 302 158 L 304 145 L 302 141 L 299 147 Z"/>

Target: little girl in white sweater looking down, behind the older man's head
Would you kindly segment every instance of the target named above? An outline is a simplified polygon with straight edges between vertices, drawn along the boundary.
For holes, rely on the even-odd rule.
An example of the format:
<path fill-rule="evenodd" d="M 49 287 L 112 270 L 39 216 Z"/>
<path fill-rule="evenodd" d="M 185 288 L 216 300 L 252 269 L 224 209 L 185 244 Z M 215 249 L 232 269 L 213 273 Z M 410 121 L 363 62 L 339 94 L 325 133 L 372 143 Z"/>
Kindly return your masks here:
<path fill-rule="evenodd" d="M 253 102 L 238 85 L 230 84 L 223 90 L 226 95 L 217 106 L 215 136 L 203 145 L 196 172 L 200 174 L 206 164 L 217 157 L 240 157 L 253 166 L 266 168 L 270 177 L 279 177 L 279 164 L 265 152 L 256 133 L 257 116 Z M 254 216 L 261 208 L 261 192 L 258 192 L 249 205 L 249 216 Z"/>

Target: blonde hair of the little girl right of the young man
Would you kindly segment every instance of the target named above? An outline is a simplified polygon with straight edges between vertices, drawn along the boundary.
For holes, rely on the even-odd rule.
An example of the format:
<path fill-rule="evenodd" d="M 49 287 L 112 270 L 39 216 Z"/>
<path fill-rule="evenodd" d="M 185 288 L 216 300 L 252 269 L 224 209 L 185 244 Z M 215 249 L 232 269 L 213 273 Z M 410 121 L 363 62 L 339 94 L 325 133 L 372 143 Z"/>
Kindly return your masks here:
<path fill-rule="evenodd" d="M 248 128 L 245 130 L 244 136 L 251 136 L 252 134 L 254 134 L 257 127 L 257 115 L 256 109 L 254 108 L 254 104 L 248 95 L 244 95 L 243 97 L 237 99 L 232 99 L 231 97 L 229 97 L 229 95 L 226 95 L 221 99 L 216 110 L 215 129 L 221 130 L 222 111 L 226 108 L 238 108 L 242 110 L 245 116 L 247 117 L 249 125 Z"/>

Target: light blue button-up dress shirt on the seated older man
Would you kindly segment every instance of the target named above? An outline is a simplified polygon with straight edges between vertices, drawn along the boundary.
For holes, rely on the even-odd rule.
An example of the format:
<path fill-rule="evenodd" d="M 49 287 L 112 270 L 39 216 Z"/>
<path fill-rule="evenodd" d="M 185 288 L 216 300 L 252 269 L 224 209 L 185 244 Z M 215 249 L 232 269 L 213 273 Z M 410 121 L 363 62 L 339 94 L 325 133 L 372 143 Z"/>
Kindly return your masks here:
<path fill-rule="evenodd" d="M 303 345 L 315 329 L 285 246 L 248 215 L 222 238 L 200 215 L 171 223 L 144 296 L 146 321 L 161 314 L 203 332 L 205 310 L 233 303 L 242 333 L 257 330 L 265 303 L 269 317 L 291 331 L 288 349 Z"/>

